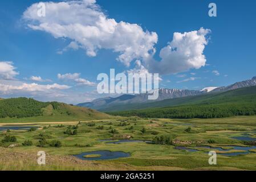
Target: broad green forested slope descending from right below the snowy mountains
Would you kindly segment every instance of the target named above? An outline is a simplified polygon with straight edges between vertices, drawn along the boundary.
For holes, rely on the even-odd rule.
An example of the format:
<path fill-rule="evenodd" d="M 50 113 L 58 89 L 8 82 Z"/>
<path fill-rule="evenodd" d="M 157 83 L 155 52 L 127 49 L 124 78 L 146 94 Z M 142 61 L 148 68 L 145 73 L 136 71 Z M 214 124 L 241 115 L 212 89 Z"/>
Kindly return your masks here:
<path fill-rule="evenodd" d="M 144 106 L 138 107 L 143 109 Z M 147 107 L 153 108 L 116 111 L 109 114 L 153 118 L 222 118 L 234 115 L 256 115 L 256 86 L 224 93 L 209 93 L 153 102 Z"/>

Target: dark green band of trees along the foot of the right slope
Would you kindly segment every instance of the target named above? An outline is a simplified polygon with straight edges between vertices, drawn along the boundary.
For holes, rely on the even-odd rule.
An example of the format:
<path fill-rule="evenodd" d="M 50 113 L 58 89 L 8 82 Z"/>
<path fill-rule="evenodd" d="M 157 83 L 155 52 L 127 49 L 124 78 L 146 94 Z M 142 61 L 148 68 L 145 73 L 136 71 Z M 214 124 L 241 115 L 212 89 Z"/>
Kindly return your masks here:
<path fill-rule="evenodd" d="M 190 105 L 108 113 L 142 118 L 225 118 L 235 115 L 256 115 L 256 104 Z"/>

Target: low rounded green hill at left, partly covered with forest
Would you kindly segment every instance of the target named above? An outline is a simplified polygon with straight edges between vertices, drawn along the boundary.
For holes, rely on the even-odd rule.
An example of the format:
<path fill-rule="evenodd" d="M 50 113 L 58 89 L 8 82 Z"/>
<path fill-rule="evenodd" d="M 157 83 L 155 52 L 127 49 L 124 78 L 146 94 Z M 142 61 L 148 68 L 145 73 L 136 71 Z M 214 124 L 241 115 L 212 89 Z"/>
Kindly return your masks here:
<path fill-rule="evenodd" d="M 0 122 L 9 121 L 80 121 L 110 119 L 99 111 L 59 102 L 39 102 L 32 98 L 0 100 Z"/>

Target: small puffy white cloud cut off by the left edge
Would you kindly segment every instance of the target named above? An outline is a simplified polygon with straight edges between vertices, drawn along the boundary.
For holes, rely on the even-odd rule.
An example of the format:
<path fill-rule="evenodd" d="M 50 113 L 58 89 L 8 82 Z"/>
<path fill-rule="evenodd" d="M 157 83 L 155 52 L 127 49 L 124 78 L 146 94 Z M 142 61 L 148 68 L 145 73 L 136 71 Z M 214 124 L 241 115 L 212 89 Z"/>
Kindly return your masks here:
<path fill-rule="evenodd" d="M 11 61 L 0 61 L 0 79 L 3 80 L 13 80 L 15 76 L 19 75 L 15 71 L 13 62 Z"/>

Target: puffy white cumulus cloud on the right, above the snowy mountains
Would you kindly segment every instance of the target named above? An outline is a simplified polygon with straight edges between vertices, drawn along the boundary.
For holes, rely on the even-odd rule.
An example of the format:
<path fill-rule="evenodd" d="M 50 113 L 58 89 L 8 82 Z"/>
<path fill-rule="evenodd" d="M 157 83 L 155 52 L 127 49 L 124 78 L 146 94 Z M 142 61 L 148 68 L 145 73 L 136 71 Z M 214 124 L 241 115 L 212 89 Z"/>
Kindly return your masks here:
<path fill-rule="evenodd" d="M 206 64 L 204 55 L 208 44 L 206 35 L 209 29 L 200 28 L 198 31 L 185 33 L 176 32 L 173 40 L 160 51 L 161 61 L 145 60 L 149 71 L 164 74 L 185 72 L 189 69 L 199 69 Z"/>

